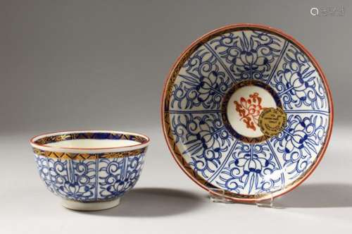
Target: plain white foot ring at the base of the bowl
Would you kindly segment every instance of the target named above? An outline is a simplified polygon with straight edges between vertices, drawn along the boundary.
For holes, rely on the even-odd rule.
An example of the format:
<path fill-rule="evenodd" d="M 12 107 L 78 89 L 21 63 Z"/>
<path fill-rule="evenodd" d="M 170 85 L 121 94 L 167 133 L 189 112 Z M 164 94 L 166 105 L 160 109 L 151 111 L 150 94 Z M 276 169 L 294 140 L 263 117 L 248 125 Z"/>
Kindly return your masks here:
<path fill-rule="evenodd" d="M 75 211 L 101 211 L 110 209 L 120 204 L 120 197 L 107 202 L 76 202 L 73 200 L 62 199 L 61 204 L 67 209 Z"/>

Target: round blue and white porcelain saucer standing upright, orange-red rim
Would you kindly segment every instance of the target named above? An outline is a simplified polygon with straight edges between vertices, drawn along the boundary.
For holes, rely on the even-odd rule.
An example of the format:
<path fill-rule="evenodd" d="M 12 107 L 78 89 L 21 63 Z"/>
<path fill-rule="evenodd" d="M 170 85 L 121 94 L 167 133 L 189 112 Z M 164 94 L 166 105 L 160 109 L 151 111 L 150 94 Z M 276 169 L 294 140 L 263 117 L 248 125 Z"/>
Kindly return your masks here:
<path fill-rule="evenodd" d="M 163 92 L 165 139 L 206 190 L 240 202 L 283 195 L 306 180 L 332 131 L 332 97 L 318 62 L 272 27 L 221 27 L 191 44 Z"/>

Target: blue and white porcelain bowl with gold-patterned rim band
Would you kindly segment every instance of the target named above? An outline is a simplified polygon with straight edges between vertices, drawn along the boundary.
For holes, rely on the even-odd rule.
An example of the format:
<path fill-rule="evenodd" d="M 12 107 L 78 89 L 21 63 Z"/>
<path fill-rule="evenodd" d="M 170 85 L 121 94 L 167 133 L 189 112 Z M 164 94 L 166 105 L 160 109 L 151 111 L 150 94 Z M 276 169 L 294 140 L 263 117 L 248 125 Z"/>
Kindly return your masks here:
<path fill-rule="evenodd" d="M 32 137 L 39 176 L 61 197 L 64 207 L 115 207 L 141 174 L 149 137 L 136 133 L 87 130 Z"/>

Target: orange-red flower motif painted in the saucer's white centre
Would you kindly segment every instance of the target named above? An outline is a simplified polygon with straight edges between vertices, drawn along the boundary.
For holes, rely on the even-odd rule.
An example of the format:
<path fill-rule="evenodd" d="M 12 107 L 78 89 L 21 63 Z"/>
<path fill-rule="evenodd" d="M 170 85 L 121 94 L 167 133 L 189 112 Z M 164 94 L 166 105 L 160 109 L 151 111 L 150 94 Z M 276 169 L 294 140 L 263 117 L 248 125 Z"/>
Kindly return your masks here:
<path fill-rule="evenodd" d="M 263 111 L 261 102 L 262 98 L 259 97 L 258 92 L 249 94 L 249 99 L 241 97 L 239 102 L 234 101 L 236 111 L 239 113 L 239 116 L 241 116 L 240 121 L 246 123 L 247 128 L 256 130 L 256 126 L 258 126 L 258 118 Z"/>

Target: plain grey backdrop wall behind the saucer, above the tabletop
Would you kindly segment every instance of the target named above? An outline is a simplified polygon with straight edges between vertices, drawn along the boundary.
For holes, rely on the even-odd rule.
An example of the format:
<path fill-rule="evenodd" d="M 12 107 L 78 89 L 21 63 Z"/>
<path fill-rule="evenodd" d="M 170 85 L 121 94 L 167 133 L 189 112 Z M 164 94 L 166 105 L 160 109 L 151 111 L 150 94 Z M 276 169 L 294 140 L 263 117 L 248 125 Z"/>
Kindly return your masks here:
<path fill-rule="evenodd" d="M 349 123 L 351 1 L 1 1 L 2 131 L 160 125 L 163 82 L 196 38 L 231 23 L 277 27 L 318 59 L 336 123 Z M 311 7 L 344 6 L 343 17 Z M 159 128 L 160 129 L 160 128 Z"/>

